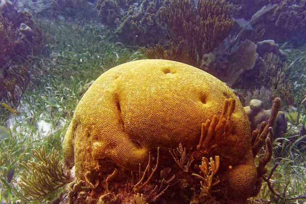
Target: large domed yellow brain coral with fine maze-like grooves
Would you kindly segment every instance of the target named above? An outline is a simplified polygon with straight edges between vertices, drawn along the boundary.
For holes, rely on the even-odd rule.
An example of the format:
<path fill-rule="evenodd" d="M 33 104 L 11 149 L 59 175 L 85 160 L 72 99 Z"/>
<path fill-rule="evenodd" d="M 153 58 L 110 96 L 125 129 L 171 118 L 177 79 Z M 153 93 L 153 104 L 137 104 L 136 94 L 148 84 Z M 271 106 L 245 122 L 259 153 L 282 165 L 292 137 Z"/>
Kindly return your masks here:
<path fill-rule="evenodd" d="M 181 62 L 140 60 L 116 66 L 102 74 L 77 105 L 63 142 L 65 164 L 75 165 L 77 180 L 88 180 L 93 171 L 105 180 L 110 163 L 131 175 L 146 167 L 149 152 L 157 147 L 166 149 L 160 165 L 176 165 L 169 150 L 182 143 L 194 155 L 194 163 L 202 156 L 220 156 L 218 185 L 223 197 L 245 201 L 257 173 L 250 125 L 238 100 L 227 137 L 212 140 L 208 149 L 196 148 L 202 122 L 219 116 L 229 98 L 237 99 L 223 82 Z M 194 166 L 191 171 L 198 173 Z M 102 183 L 108 181 L 95 187 L 105 188 Z"/>

